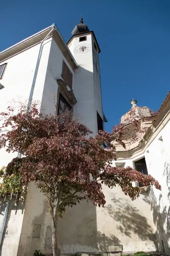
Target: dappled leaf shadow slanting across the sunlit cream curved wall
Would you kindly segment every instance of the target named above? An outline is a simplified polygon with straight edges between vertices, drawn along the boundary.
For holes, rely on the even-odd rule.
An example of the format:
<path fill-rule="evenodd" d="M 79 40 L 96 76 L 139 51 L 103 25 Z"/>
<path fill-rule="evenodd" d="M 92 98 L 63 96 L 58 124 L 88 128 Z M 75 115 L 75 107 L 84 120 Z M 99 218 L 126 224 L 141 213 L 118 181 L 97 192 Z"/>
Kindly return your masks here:
<path fill-rule="evenodd" d="M 106 207 L 109 215 L 116 222 L 116 228 L 119 230 L 119 233 L 122 233 L 122 235 L 124 234 L 130 239 L 134 239 L 135 235 L 140 240 L 145 241 L 146 245 L 147 240 L 153 241 L 155 250 L 157 241 L 154 230 L 150 224 L 148 224 L 147 218 L 142 215 L 140 210 L 133 206 L 133 204 L 130 204 L 130 201 L 127 201 L 127 198 L 118 198 L 113 195 L 111 200 L 113 204 L 109 204 Z M 116 207 L 113 207 L 113 205 Z M 135 241 L 133 242 L 135 243 Z"/>

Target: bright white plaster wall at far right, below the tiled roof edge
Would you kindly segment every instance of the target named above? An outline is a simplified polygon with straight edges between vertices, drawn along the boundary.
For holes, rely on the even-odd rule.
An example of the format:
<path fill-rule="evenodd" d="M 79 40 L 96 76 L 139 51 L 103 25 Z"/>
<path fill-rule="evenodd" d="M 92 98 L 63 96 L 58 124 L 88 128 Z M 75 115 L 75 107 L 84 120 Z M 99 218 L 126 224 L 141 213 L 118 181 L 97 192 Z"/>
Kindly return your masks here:
<path fill-rule="evenodd" d="M 159 138 L 162 136 L 162 140 Z M 148 174 L 161 184 L 161 191 L 153 188 L 150 203 L 156 228 L 159 250 L 170 254 L 170 121 L 145 151 Z"/>

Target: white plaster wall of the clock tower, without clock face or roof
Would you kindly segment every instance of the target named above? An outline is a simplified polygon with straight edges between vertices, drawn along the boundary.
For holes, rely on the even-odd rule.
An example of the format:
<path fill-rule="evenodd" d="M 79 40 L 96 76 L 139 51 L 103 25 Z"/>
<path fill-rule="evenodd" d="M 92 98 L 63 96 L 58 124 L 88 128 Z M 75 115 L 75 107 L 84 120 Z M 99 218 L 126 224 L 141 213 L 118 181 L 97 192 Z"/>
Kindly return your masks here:
<path fill-rule="evenodd" d="M 74 106 L 74 113 L 79 114 L 82 118 L 80 122 L 88 126 L 95 135 L 97 133 L 97 111 L 103 118 L 102 100 L 100 93 L 96 93 L 95 90 L 93 63 L 95 49 L 92 46 L 92 35 L 90 33 L 85 35 L 87 36 L 87 41 L 79 42 L 79 36 L 76 36 L 69 45 L 71 53 L 79 64 L 79 68 L 75 70 L 74 93 L 77 104 Z M 84 43 L 90 44 L 91 49 L 86 53 L 76 53 L 75 48 Z M 100 82 L 97 88 L 101 91 Z"/>

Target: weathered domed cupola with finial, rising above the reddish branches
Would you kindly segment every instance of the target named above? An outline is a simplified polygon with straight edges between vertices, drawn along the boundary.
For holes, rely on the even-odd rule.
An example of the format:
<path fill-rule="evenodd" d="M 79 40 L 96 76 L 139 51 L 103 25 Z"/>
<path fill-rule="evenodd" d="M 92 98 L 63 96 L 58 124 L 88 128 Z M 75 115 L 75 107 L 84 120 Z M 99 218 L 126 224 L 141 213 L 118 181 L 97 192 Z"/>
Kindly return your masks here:
<path fill-rule="evenodd" d="M 143 117 L 152 116 L 149 108 L 147 107 L 138 107 L 136 105 L 137 100 L 132 99 L 130 104 L 132 105 L 131 109 L 121 117 L 121 123 L 132 122 L 134 119 L 141 119 Z"/>

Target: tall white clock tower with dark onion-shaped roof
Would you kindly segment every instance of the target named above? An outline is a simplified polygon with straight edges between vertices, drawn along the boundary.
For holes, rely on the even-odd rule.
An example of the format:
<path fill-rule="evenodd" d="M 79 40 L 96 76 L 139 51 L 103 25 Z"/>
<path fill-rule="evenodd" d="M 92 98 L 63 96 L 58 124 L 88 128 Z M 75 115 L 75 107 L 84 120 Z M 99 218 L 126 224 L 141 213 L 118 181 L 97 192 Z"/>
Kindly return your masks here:
<path fill-rule="evenodd" d="M 94 135 L 104 129 L 102 93 L 100 83 L 99 53 L 100 48 L 93 31 L 80 19 L 68 41 L 68 48 L 77 61 L 79 68 L 74 75 L 74 95 L 77 104 L 74 114 L 80 122 L 88 126 Z"/>

